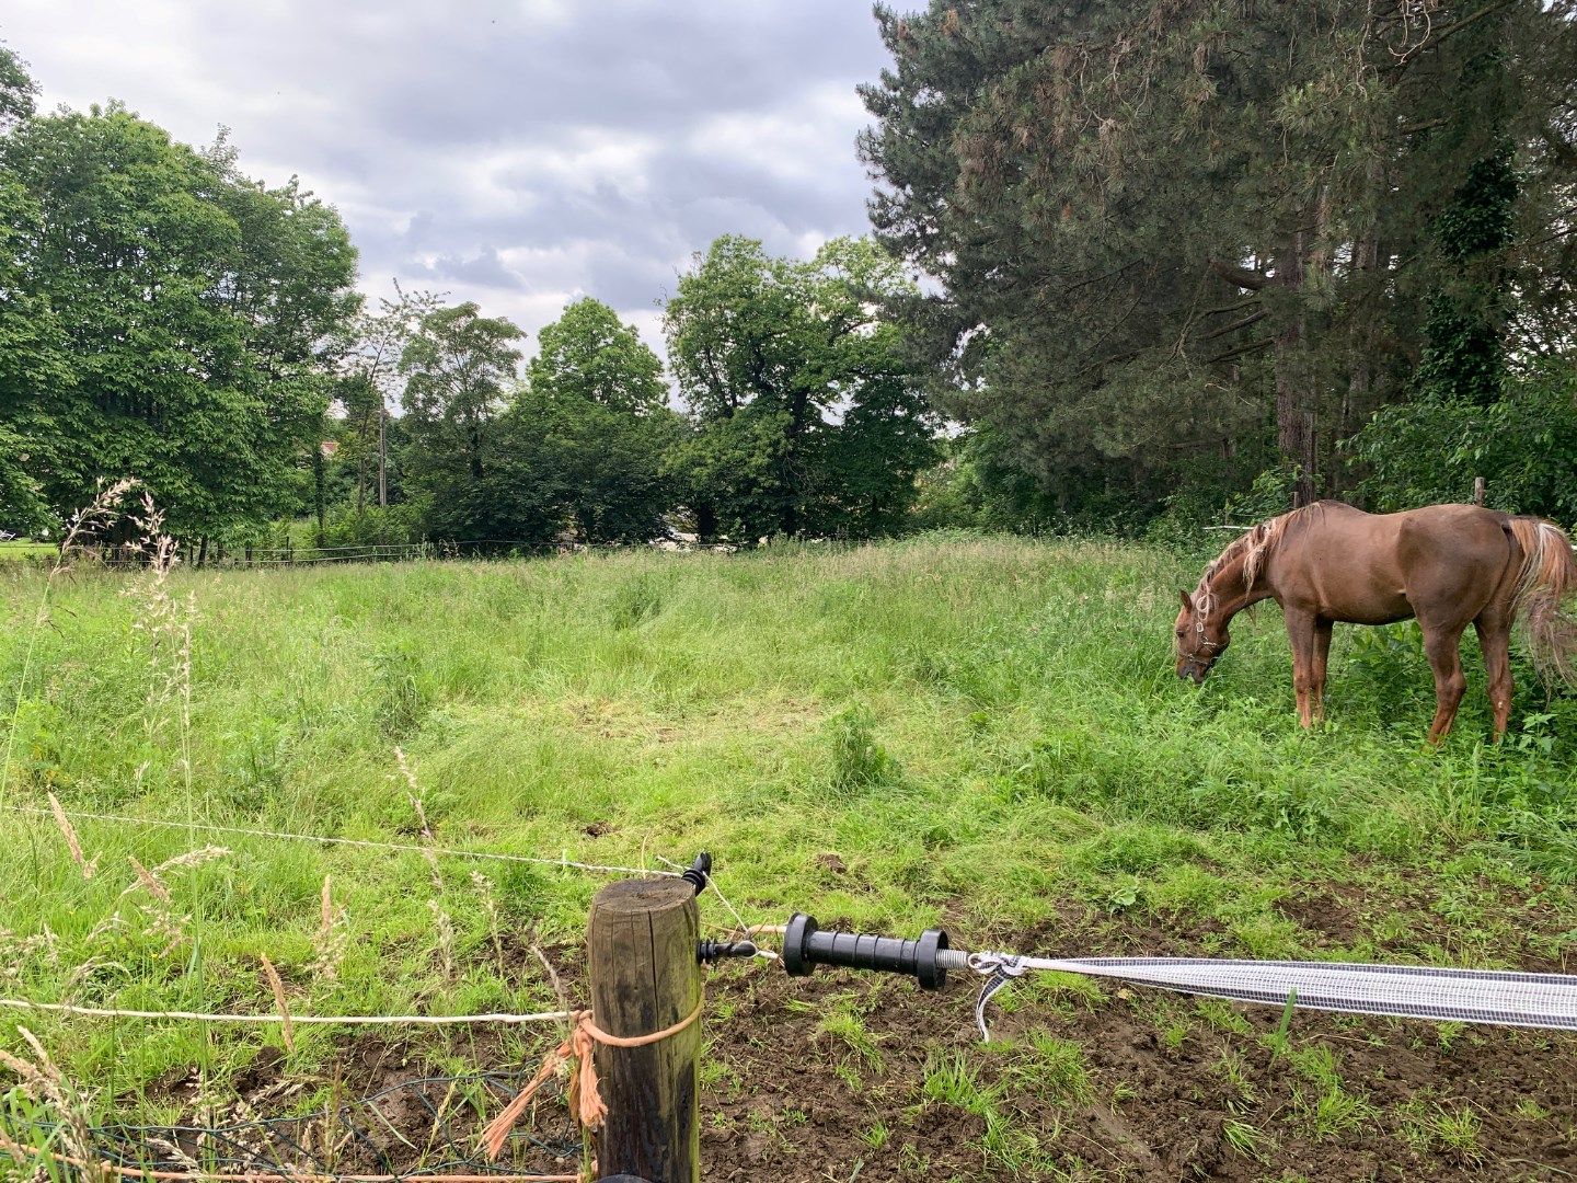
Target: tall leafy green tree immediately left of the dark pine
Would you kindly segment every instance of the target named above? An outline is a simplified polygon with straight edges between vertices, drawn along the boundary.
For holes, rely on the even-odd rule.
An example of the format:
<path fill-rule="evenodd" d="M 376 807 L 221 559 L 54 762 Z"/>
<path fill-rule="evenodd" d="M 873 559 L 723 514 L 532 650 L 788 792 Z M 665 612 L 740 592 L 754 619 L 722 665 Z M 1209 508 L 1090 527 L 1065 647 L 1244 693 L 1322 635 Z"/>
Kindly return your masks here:
<path fill-rule="evenodd" d="M 907 524 L 935 424 L 878 304 L 912 290 L 863 240 L 796 262 L 724 237 L 695 259 L 665 309 L 692 415 L 667 470 L 702 533 L 869 538 Z"/>

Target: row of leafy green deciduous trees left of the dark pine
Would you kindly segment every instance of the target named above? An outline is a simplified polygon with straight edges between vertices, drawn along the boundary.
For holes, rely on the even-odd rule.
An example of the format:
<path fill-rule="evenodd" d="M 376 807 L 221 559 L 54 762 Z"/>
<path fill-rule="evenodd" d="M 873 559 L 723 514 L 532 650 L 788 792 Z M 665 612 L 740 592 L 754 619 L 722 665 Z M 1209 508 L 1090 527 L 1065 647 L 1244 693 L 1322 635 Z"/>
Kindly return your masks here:
<path fill-rule="evenodd" d="M 867 240 L 792 260 L 719 238 L 667 303 L 670 386 L 593 298 L 528 360 L 475 303 L 369 304 L 339 215 L 293 181 L 246 178 L 222 137 L 196 151 L 123 107 L 44 115 L 33 95 L 0 50 L 6 533 L 58 538 L 121 476 L 196 554 L 910 519 L 938 421 L 882 315 L 913 284 Z"/>

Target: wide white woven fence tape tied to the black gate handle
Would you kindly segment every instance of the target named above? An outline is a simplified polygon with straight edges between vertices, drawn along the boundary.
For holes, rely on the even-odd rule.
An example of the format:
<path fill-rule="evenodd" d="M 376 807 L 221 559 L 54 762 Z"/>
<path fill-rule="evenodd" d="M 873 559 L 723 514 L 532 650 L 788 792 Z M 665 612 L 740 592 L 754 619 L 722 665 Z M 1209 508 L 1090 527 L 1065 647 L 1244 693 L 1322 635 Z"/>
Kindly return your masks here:
<path fill-rule="evenodd" d="M 1577 1030 L 1577 975 L 1210 957 L 1014 957 L 945 951 L 948 968 L 992 973 L 1005 964 L 1112 978 L 1211 998 L 1348 1014 Z"/>

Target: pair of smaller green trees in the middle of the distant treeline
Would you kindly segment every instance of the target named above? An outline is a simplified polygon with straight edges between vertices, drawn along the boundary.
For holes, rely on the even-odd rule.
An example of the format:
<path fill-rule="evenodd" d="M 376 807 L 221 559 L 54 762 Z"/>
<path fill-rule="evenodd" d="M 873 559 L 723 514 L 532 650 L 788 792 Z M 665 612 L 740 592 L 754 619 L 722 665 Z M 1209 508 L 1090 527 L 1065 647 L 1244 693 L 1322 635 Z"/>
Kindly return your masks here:
<path fill-rule="evenodd" d="M 402 468 L 427 535 L 495 550 L 661 535 L 681 424 L 662 405 L 656 355 L 580 300 L 542 330 L 520 383 L 522 336 L 460 304 L 424 315 L 405 345 Z"/>

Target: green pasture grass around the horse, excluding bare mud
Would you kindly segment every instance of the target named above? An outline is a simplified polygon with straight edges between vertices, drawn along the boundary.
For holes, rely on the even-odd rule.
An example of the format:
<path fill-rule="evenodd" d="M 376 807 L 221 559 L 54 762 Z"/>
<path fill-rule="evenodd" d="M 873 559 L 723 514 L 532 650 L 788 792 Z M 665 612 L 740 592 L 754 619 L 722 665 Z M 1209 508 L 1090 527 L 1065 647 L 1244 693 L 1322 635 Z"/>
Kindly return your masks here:
<path fill-rule="evenodd" d="M 0 994 L 267 1011 L 267 954 L 300 1013 L 552 1003 L 520 940 L 569 950 L 598 879 L 440 860 L 435 882 L 416 853 L 197 825 L 419 841 L 396 748 L 440 845 L 653 866 L 706 849 L 751 921 L 803 909 L 905 935 L 945 923 L 959 946 L 1038 951 L 1027 942 L 1072 913 L 1197 932 L 1192 948 L 1238 956 L 1561 957 L 1577 942 L 1572 702 L 1547 705 L 1523 677 L 1512 741 L 1495 749 L 1474 669 L 1457 733 L 1427 751 L 1432 691 L 1405 631 L 1358 645 L 1339 629 L 1331 722 L 1303 732 L 1274 609 L 1238 623 L 1203 691 L 1173 677 L 1175 588 L 1195 576 L 1154 549 L 994 538 L 177 571 L 162 599 L 136 592 L 145 579 L 84 573 L 57 584 L 22 685 L 44 576 L 16 565 L 0 571 L 13 752 L 0 804 L 54 792 L 68 809 L 191 828 L 84 822 L 96 860 L 84 879 L 49 819 L 6 815 Z M 123 894 L 131 856 L 153 868 L 210 844 L 226 853 L 162 872 L 167 905 Z M 1364 901 L 1339 939 L 1290 907 L 1318 891 Z M 1400 909 L 1438 923 L 1397 927 Z M 710 894 L 703 915 L 730 924 Z M 1017 989 L 1020 1011 L 1118 1005 Z M 1233 1011 L 1203 1014 L 1165 1021 L 1169 1046 L 1194 1047 L 1191 1032 L 1255 1046 Z M 25 1022 L 71 1076 L 131 1107 L 161 1076 L 196 1065 L 222 1080 L 279 1043 Z M 852 1085 L 893 1069 L 894 1044 L 856 1003 L 818 1032 Z M 349 1038 L 298 1030 L 289 1066 L 322 1071 Z M 524 1057 L 539 1035 L 500 1038 L 489 1055 Z M 21 1047 L 3 1016 L 0 1046 Z M 467 1055 L 465 1036 L 434 1047 Z M 1202 1073 L 1252 1096 L 1236 1060 L 1210 1060 Z M 1370 1120 L 1326 1066 L 1282 1069 L 1298 1104 L 1281 1120 L 1312 1137 Z M 1066 1106 L 1112 1095 L 1118 1082 L 1091 1073 L 1077 1044 L 1042 1035 L 1009 1079 Z M 998 1164 L 1039 1161 L 1055 1131 L 1005 1126 L 1011 1107 L 982 1099 L 1001 1087 L 938 1060 L 924 1095 L 990 1109 Z M 871 1147 L 896 1134 L 875 1117 Z M 1255 1120 L 1233 1118 L 1243 1155 L 1271 1137 Z M 1474 1131 L 1451 1120 L 1429 1136 L 1476 1153 Z"/>

